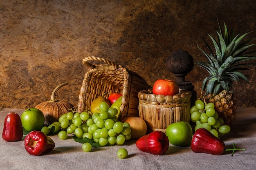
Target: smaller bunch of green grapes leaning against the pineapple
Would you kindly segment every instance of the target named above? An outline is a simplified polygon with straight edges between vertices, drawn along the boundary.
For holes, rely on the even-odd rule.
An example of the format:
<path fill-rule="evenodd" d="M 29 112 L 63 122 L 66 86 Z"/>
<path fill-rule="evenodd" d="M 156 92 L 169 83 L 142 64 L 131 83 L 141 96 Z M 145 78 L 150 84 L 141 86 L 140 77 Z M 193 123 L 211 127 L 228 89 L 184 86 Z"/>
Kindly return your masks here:
<path fill-rule="evenodd" d="M 214 136 L 220 138 L 230 131 L 230 126 L 223 125 L 224 120 L 218 118 L 213 103 L 204 104 L 200 99 L 190 109 L 191 121 L 195 122 L 195 131 L 199 128 L 209 130 Z"/>

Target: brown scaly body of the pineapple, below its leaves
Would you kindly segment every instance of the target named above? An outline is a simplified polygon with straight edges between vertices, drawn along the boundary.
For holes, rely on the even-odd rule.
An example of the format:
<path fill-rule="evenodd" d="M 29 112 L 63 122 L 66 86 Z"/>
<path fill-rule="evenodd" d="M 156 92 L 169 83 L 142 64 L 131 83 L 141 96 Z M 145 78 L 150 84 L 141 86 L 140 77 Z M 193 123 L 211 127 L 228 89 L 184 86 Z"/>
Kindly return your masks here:
<path fill-rule="evenodd" d="M 231 91 L 222 90 L 216 95 L 204 94 L 206 103 L 213 103 L 219 118 L 224 119 L 224 124 L 231 126 L 236 119 L 236 105 Z"/>

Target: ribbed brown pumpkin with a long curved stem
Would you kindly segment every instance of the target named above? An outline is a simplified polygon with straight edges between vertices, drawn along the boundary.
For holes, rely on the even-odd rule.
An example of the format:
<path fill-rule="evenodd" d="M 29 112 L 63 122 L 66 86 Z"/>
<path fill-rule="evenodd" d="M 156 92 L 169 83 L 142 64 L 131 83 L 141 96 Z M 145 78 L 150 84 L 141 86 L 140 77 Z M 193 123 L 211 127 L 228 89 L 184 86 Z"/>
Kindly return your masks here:
<path fill-rule="evenodd" d="M 43 102 L 38 104 L 35 108 L 38 108 L 45 115 L 45 123 L 52 124 L 54 121 L 58 121 L 58 118 L 61 115 L 73 111 L 74 106 L 69 102 L 59 101 L 56 99 L 56 92 L 62 87 L 67 85 L 68 83 L 63 83 L 58 85 L 54 91 L 52 91 L 51 99 L 47 102 Z"/>

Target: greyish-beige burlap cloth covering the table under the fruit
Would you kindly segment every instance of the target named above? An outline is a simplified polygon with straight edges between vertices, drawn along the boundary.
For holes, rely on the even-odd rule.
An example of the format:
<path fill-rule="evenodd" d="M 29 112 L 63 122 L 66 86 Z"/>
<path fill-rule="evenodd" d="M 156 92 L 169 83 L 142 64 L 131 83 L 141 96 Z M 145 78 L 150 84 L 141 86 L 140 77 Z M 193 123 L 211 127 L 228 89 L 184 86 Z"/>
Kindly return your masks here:
<path fill-rule="evenodd" d="M 0 109 L 0 132 L 3 130 L 4 118 L 9 112 L 19 115 L 24 110 L 15 108 Z M 237 109 L 237 118 L 231 131 L 222 137 L 227 148 L 245 148 L 223 155 L 194 153 L 190 147 L 169 145 L 164 155 L 152 155 L 140 151 L 135 140 L 126 141 L 123 146 L 92 148 L 83 152 L 82 144 L 71 137 L 65 140 L 58 135 L 51 136 L 55 148 L 45 155 L 29 155 L 24 148 L 24 137 L 20 141 L 7 142 L 0 138 L 0 170 L 252 170 L 256 169 L 256 108 Z M 128 157 L 119 159 L 117 150 L 126 148 Z"/>

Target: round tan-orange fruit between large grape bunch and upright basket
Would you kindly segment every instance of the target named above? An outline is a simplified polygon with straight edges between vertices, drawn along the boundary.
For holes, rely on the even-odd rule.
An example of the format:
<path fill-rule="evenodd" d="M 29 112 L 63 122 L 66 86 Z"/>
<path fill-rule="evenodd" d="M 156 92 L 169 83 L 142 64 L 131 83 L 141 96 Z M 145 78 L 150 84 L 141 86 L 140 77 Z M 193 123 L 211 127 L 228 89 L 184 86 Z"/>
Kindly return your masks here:
<path fill-rule="evenodd" d="M 122 122 L 127 122 L 130 124 L 131 128 L 131 139 L 139 139 L 146 135 L 147 132 L 147 124 L 140 117 L 126 117 Z"/>

